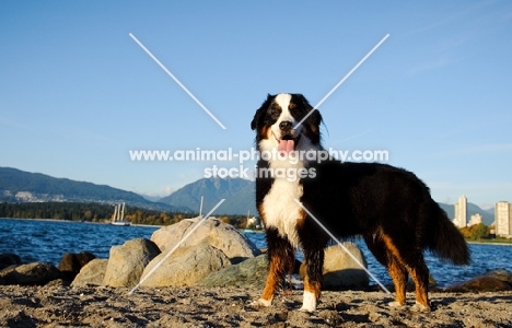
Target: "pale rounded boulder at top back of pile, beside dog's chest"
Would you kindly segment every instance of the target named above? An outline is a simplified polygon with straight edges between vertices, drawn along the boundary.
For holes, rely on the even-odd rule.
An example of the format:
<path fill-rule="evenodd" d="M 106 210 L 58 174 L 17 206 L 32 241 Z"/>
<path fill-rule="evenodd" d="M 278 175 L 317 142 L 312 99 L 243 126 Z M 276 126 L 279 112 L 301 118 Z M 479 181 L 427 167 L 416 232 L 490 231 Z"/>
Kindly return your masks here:
<path fill-rule="evenodd" d="M 162 251 L 172 249 L 182 238 L 195 227 L 199 219 L 186 219 L 176 224 L 164 226 L 153 233 L 151 241 Z M 181 247 L 189 247 L 207 243 L 222 250 L 232 263 L 238 263 L 247 258 L 259 255 L 259 249 L 247 239 L 233 225 L 223 223 L 217 219 L 207 219 L 188 236 Z"/>

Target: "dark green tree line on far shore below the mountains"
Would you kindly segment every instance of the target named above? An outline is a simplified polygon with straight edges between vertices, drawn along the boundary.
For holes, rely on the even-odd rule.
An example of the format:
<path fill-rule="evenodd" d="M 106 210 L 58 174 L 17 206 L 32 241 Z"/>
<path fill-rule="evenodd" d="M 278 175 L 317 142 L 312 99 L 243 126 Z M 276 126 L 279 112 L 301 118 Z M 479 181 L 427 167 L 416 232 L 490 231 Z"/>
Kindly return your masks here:
<path fill-rule="evenodd" d="M 0 202 L 0 218 L 9 219 L 51 219 L 107 223 L 114 214 L 114 206 L 84 202 Z M 170 225 L 183 219 L 197 216 L 197 213 L 164 212 L 127 206 L 125 220 L 132 224 Z M 245 227 L 243 215 L 217 216 L 236 227 Z"/>

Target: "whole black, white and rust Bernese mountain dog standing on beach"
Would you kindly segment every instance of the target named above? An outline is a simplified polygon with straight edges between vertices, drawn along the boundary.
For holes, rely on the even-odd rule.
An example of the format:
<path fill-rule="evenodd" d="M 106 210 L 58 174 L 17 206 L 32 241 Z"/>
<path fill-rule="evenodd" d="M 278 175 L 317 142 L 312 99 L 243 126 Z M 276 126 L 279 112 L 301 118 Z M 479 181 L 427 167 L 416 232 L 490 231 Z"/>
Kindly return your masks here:
<path fill-rule="evenodd" d="M 260 154 L 256 207 L 265 224 L 269 262 L 256 303 L 271 305 L 300 247 L 306 265 L 301 309 L 316 309 L 329 236 L 303 206 L 337 237 L 362 236 L 393 279 L 396 297 L 391 307 L 406 306 L 410 276 L 416 285 L 411 309 L 430 311 L 423 250 L 467 265 L 470 256 L 463 235 L 412 173 L 379 163 L 325 159 L 321 122 L 319 112 L 303 95 L 288 93 L 268 95 L 251 122 Z"/>

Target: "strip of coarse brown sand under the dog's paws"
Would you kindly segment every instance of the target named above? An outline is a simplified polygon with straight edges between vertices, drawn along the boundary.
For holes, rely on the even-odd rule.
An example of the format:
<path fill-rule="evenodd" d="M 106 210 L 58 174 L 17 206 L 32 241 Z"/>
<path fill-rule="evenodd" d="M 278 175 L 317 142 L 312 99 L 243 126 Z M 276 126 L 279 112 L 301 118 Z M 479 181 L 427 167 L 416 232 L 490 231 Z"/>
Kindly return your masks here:
<path fill-rule="evenodd" d="M 324 292 L 315 313 L 298 311 L 301 291 L 269 308 L 256 289 L 0 286 L 1 327 L 510 327 L 512 292 L 430 294 L 432 312 L 389 309 L 380 291 Z M 408 293 L 408 305 L 414 294 Z"/>

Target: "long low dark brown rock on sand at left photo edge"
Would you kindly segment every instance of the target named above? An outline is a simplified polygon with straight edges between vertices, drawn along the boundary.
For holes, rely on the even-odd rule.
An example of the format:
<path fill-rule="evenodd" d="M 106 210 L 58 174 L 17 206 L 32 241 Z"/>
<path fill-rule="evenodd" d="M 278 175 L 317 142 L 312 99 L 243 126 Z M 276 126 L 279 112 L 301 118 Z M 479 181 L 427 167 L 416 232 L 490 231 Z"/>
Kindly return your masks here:
<path fill-rule="evenodd" d="M 1 277 L 4 284 L 44 285 L 60 279 L 60 271 L 51 263 L 34 262 L 4 269 Z"/>

